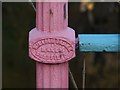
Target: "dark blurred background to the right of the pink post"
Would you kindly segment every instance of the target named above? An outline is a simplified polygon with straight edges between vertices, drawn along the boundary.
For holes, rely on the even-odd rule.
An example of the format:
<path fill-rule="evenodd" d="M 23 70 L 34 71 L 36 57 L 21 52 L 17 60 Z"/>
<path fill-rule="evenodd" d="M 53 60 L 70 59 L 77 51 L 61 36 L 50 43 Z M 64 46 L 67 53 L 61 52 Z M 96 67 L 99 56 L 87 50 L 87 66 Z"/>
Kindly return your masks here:
<path fill-rule="evenodd" d="M 76 37 L 80 33 L 120 33 L 120 4 L 117 2 L 70 2 L 69 26 L 75 30 Z M 86 60 L 86 88 L 120 87 L 118 56 L 119 53 L 79 53 L 77 51 L 76 58 L 70 62 L 77 86 L 82 88 L 82 83 L 79 81 L 83 80 L 80 77 L 83 77 L 83 60 Z M 73 87 L 72 84 L 71 87 Z"/>

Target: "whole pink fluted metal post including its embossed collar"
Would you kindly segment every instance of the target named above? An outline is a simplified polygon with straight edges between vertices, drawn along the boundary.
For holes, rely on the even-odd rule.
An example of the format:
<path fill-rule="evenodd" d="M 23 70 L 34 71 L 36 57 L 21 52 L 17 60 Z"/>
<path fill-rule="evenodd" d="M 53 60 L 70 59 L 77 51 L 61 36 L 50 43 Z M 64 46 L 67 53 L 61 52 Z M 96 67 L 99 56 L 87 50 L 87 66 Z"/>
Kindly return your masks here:
<path fill-rule="evenodd" d="M 68 88 L 68 61 L 75 57 L 75 32 L 68 26 L 68 2 L 37 2 L 36 28 L 29 32 L 29 56 L 36 61 L 36 88 Z"/>

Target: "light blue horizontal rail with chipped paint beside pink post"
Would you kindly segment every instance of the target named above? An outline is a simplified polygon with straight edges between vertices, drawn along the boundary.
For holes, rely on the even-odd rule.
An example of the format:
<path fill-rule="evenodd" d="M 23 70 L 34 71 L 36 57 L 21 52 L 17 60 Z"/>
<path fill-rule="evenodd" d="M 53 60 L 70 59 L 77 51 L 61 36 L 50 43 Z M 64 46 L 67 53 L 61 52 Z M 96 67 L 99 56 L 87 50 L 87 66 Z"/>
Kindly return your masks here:
<path fill-rule="evenodd" d="M 120 34 L 79 34 L 81 52 L 120 52 Z"/>

